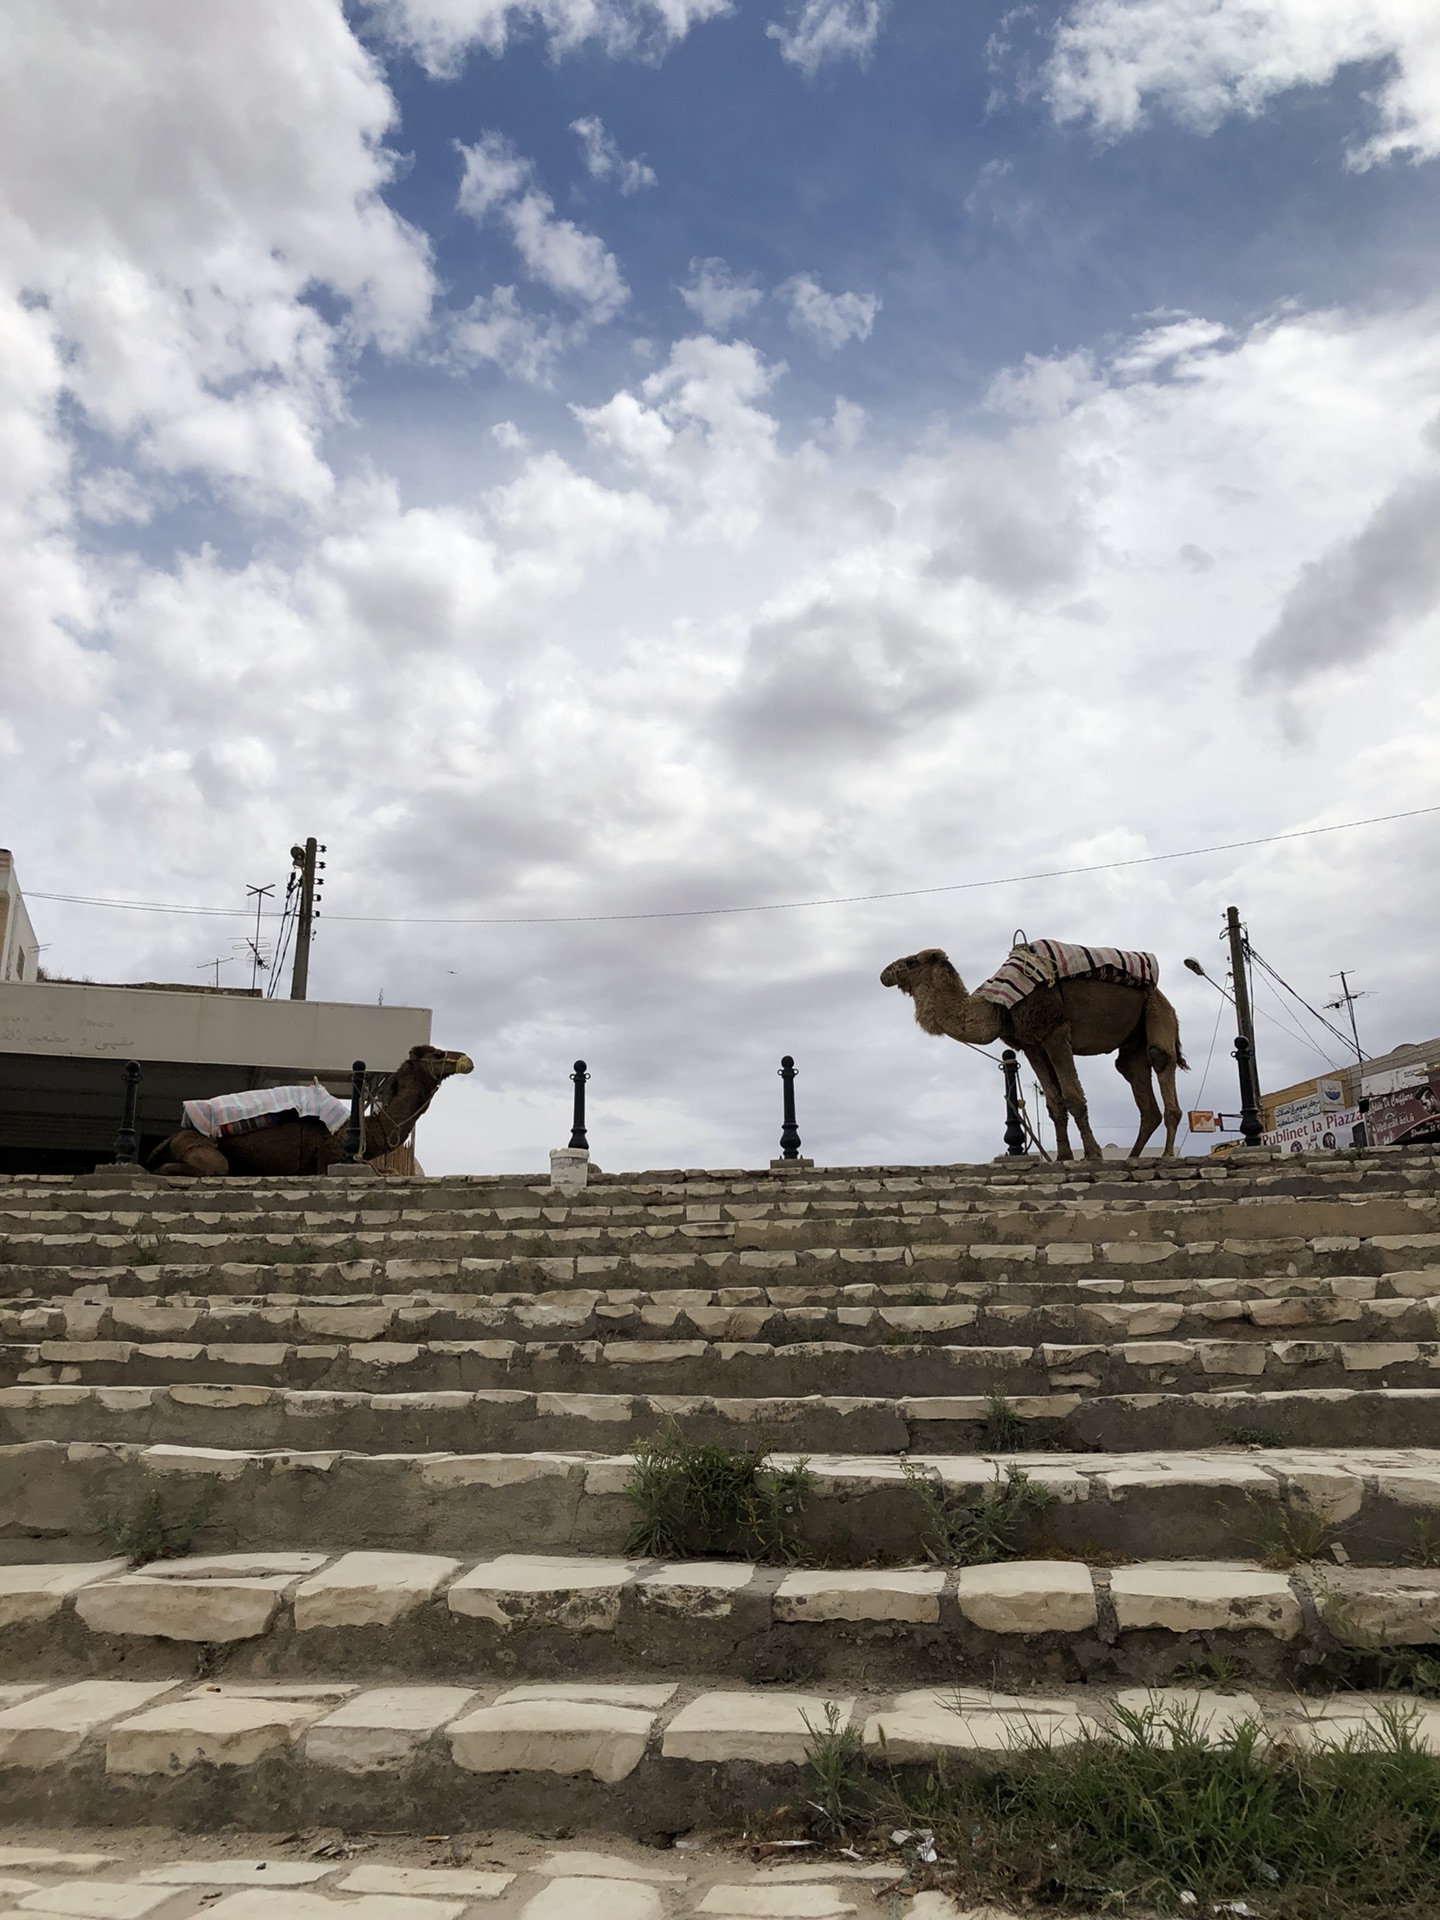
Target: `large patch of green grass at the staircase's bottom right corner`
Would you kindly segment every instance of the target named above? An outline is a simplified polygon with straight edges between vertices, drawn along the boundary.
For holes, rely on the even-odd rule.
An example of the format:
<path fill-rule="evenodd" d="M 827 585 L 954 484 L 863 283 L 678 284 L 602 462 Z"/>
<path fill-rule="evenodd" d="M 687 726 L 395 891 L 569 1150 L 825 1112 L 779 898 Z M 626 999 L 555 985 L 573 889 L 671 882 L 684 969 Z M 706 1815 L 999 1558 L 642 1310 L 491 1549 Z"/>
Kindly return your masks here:
<path fill-rule="evenodd" d="M 874 1782 L 864 1816 L 851 1801 L 849 1830 L 933 1832 L 933 1884 L 960 1907 L 1440 1914 L 1440 1759 L 1421 1747 L 1413 1715 L 1306 1753 L 1269 1749 L 1256 1726 L 1210 1741 L 1187 1713 L 1117 1722 L 1119 1738 L 1035 1741 Z"/>

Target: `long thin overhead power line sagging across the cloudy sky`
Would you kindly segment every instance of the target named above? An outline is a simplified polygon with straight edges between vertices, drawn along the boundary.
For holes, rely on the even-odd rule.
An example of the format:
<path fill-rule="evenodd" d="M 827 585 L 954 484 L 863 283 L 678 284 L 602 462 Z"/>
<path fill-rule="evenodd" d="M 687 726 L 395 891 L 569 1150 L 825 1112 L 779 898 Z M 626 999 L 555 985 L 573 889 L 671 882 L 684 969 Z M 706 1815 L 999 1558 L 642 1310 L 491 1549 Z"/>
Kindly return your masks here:
<path fill-rule="evenodd" d="M 351 925 L 396 927 L 561 927 L 589 925 L 611 920 L 708 920 L 720 914 L 789 914 L 804 906 L 862 906 L 870 900 L 916 900 L 935 893 L 975 893 L 981 887 L 1020 887 L 1035 879 L 1073 879 L 1077 874 L 1116 874 L 1131 866 L 1158 866 L 1162 860 L 1198 860 L 1210 852 L 1240 852 L 1248 847 L 1273 847 L 1279 841 L 1313 839 L 1319 833 L 1348 833 L 1352 828 L 1384 826 L 1390 820 L 1417 820 L 1421 814 L 1440 814 L 1436 806 L 1409 806 L 1398 814 L 1371 814 L 1367 820 L 1336 820 L 1329 828 L 1294 828 L 1286 833 L 1260 833 L 1256 839 L 1219 841 L 1213 847 L 1183 847 L 1177 852 L 1146 852 L 1131 860 L 1096 860 L 1091 866 L 1054 866 L 1039 874 L 1002 874 L 995 879 L 954 879 L 939 887 L 899 887 L 893 893 L 841 893 L 816 900 L 768 900 L 745 906 L 670 906 L 639 914 L 326 914 Z M 27 889 L 29 891 L 29 889 Z M 225 920 L 250 918 L 246 908 L 175 906 L 157 900 L 106 900 L 84 893 L 29 893 L 33 900 L 63 900 L 71 906 L 115 906 L 132 914 L 209 914 Z"/>

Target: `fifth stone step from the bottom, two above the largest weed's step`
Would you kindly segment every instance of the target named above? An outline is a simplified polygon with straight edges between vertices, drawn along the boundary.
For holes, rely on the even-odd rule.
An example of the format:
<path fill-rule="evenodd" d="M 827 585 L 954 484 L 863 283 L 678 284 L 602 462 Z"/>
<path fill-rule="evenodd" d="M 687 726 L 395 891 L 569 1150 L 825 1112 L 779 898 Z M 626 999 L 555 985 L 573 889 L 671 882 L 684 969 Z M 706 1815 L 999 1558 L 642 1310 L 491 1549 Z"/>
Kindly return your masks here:
<path fill-rule="evenodd" d="M 1430 1323 L 1432 1325 L 1432 1323 Z M 1440 1340 L 40 1340 L 0 1348 L 13 1386 L 257 1386 L 321 1392 L 680 1394 L 1146 1394 L 1213 1388 L 1440 1384 Z"/>

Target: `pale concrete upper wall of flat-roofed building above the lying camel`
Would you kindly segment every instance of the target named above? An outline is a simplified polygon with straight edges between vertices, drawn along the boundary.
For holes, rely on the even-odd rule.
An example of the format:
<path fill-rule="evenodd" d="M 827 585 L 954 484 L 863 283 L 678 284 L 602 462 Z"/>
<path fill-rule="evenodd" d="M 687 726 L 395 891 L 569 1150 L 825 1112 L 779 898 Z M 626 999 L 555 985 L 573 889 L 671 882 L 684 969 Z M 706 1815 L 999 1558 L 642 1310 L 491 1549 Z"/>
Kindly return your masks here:
<path fill-rule="evenodd" d="M 0 1054 L 69 1060 L 215 1060 L 238 1068 L 392 1071 L 430 1039 L 428 1006 L 250 1000 L 144 987 L 0 981 Z"/>

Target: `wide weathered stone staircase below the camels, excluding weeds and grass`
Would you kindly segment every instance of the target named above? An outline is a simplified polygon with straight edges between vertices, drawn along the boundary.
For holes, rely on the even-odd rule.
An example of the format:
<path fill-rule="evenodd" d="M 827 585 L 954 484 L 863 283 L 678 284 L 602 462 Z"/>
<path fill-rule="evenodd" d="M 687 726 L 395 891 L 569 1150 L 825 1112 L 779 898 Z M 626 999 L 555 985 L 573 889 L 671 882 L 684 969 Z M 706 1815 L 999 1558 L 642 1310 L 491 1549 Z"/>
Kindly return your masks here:
<path fill-rule="evenodd" d="M 828 1707 L 1365 1724 L 1440 1644 L 1436 1309 L 1419 1148 L 0 1181 L 0 1811 L 653 1837 Z M 676 1434 L 804 1459 L 783 1563 L 634 1549 Z"/>

